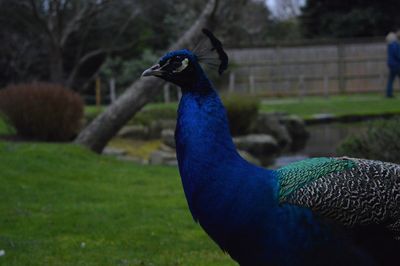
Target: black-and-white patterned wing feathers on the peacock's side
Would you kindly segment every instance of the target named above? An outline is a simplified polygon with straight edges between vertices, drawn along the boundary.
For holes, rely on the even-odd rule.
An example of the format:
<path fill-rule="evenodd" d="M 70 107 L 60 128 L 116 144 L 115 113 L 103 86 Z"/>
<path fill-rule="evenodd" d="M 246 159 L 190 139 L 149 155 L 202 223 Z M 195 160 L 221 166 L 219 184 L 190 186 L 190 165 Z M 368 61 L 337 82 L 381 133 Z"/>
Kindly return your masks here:
<path fill-rule="evenodd" d="M 400 166 L 353 158 L 325 160 L 331 160 L 336 170 L 322 174 L 318 171 L 320 174 L 317 177 L 309 177 L 310 174 L 315 175 L 315 172 L 298 169 L 303 173 L 302 178 L 308 182 L 295 186 L 289 193 L 281 193 L 280 202 L 311 208 L 349 227 L 383 224 L 399 235 Z M 348 163 L 347 167 L 343 167 L 342 163 Z M 289 177 L 295 174 L 294 170 L 289 175 L 287 172 L 282 173 L 286 174 L 286 177 L 281 174 L 285 182 L 291 180 L 301 183 Z M 285 182 L 281 181 L 281 184 Z"/>

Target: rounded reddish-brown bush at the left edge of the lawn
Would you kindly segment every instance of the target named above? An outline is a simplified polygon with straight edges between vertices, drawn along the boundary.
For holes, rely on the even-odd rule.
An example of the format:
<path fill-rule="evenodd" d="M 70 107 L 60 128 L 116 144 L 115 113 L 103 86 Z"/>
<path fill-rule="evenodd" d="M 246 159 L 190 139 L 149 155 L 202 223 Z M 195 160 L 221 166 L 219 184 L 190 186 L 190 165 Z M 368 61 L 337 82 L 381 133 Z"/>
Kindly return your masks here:
<path fill-rule="evenodd" d="M 0 111 L 24 138 L 70 140 L 81 127 L 83 108 L 80 96 L 60 85 L 19 84 L 0 90 Z"/>

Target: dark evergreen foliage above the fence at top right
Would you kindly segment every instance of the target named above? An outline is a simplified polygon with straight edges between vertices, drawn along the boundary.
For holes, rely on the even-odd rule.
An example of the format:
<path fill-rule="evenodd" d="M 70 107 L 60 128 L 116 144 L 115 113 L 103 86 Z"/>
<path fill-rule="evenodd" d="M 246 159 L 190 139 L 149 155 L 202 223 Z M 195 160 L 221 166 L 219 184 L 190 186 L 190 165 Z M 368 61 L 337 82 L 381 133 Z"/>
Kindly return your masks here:
<path fill-rule="evenodd" d="M 400 1 L 307 0 L 300 17 L 306 37 L 383 36 L 400 27 Z"/>

